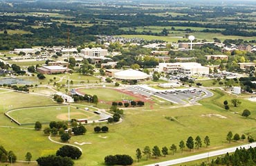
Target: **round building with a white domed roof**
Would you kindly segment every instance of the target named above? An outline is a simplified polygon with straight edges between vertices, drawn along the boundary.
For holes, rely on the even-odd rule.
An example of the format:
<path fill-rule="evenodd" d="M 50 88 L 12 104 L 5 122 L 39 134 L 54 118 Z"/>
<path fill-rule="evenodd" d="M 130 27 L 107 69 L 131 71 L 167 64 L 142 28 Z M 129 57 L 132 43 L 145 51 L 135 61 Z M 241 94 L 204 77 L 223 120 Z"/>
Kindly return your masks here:
<path fill-rule="evenodd" d="M 118 80 L 147 80 L 149 78 L 149 75 L 141 71 L 128 69 L 125 71 L 119 71 L 117 73 L 114 73 L 113 77 Z"/>

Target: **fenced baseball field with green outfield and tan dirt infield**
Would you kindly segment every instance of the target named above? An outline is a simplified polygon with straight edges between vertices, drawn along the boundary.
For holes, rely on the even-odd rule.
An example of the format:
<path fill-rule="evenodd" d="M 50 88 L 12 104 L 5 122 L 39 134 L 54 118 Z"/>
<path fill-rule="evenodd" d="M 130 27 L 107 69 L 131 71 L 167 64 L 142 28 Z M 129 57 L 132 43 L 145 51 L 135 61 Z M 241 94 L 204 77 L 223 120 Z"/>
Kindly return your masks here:
<path fill-rule="evenodd" d="M 39 122 L 51 122 L 68 120 L 68 107 L 67 106 L 54 106 L 54 107 L 35 107 L 16 109 L 8 113 L 9 116 L 20 122 L 21 124 Z M 83 119 L 95 116 L 95 114 L 84 111 L 84 109 L 76 109 L 70 107 L 71 119 Z"/>

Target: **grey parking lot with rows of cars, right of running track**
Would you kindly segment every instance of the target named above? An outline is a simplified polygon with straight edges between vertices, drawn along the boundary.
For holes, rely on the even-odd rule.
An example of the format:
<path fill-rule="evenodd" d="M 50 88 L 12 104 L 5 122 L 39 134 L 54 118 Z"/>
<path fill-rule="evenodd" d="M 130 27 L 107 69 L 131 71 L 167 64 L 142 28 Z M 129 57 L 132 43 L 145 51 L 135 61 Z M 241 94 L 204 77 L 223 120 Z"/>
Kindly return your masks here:
<path fill-rule="evenodd" d="M 129 86 L 127 89 L 147 97 L 154 95 L 158 98 L 162 98 L 163 100 L 167 100 L 175 104 L 194 103 L 198 100 L 201 100 L 202 98 L 209 98 L 213 95 L 206 89 L 198 88 L 158 90 L 146 85 L 136 85 Z"/>

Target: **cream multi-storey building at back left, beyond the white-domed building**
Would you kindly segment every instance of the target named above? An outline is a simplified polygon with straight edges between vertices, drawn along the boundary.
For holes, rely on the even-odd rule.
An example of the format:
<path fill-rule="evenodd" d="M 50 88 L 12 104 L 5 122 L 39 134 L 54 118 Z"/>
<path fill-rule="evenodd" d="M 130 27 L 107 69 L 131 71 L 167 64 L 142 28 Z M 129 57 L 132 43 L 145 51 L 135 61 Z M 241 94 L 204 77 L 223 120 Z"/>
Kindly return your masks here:
<path fill-rule="evenodd" d="M 107 56 L 107 49 L 102 48 L 84 48 L 81 50 L 84 57 L 105 57 Z"/>

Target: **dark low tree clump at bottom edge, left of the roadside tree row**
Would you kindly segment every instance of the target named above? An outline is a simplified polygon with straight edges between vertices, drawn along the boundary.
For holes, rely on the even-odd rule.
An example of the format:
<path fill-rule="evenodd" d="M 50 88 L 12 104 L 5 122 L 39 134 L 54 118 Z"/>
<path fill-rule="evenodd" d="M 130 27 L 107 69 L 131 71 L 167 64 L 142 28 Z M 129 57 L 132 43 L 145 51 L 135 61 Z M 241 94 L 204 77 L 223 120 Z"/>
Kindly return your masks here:
<path fill-rule="evenodd" d="M 109 155 L 104 158 L 106 165 L 132 165 L 134 160 L 127 154 Z"/>

